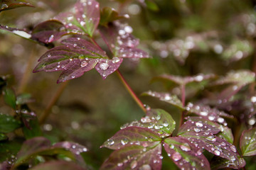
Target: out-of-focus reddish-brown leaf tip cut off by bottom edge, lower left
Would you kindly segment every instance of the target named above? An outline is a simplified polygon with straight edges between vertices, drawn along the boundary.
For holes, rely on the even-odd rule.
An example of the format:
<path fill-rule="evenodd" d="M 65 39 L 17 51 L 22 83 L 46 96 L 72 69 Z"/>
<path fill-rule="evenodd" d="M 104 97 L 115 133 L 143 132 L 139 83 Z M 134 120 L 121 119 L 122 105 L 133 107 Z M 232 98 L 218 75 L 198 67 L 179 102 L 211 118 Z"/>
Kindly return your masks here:
<path fill-rule="evenodd" d="M 74 164 L 73 162 L 64 162 L 64 161 L 52 161 L 46 162 L 45 164 L 39 164 L 38 166 L 34 166 L 31 170 L 46 170 L 46 169 L 54 169 L 54 170 L 85 170 L 82 167 Z"/>

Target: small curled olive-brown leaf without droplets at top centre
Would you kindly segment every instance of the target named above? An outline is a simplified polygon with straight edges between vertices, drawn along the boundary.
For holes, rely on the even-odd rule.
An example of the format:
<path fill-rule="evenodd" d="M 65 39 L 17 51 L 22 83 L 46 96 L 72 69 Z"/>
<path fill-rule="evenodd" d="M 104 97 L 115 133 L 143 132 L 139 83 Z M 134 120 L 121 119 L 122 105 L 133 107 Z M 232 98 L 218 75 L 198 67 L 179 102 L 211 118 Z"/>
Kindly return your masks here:
<path fill-rule="evenodd" d="M 107 26 L 108 23 L 121 18 L 126 18 L 126 16 L 119 16 L 119 13 L 114 8 L 106 6 L 100 11 L 100 25 L 102 26 Z"/>

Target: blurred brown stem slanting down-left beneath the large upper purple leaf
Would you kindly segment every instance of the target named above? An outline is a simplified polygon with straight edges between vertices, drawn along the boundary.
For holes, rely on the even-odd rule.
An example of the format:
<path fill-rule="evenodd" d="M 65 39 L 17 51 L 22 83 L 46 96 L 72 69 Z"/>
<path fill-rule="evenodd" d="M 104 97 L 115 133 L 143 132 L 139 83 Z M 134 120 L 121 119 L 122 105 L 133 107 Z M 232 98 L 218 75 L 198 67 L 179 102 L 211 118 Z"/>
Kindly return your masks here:
<path fill-rule="evenodd" d="M 63 94 L 63 91 L 64 91 L 65 87 L 68 85 L 68 82 L 69 81 L 65 81 L 62 84 L 60 84 L 58 90 L 54 94 L 53 98 L 50 100 L 50 103 L 48 103 L 46 111 L 44 111 L 43 114 L 40 116 L 40 118 L 39 118 L 40 124 L 45 123 L 46 118 L 48 117 L 48 115 L 50 115 L 51 109 L 53 108 L 55 103 L 58 101 L 58 98 L 60 98 L 61 94 Z"/>

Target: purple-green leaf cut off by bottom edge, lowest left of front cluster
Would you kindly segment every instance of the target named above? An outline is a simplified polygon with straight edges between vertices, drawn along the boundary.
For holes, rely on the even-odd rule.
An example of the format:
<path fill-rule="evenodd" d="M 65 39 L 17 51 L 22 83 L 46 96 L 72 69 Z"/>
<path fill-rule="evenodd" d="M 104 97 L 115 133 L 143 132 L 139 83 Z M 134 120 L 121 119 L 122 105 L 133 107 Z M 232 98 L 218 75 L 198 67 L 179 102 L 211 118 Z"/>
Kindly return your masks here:
<path fill-rule="evenodd" d="M 125 145 L 110 154 L 100 169 L 161 169 L 161 143 L 143 147 L 142 145 Z"/>

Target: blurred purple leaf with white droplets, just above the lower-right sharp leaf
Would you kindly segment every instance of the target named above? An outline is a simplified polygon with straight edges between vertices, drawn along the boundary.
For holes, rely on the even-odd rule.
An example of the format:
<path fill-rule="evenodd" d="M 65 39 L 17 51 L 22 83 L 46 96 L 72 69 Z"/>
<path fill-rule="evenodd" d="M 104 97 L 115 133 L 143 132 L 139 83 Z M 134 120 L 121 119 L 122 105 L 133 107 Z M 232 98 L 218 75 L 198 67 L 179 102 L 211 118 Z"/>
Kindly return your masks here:
<path fill-rule="evenodd" d="M 196 115 L 199 115 L 203 118 L 206 118 L 210 121 L 220 123 L 223 125 L 228 125 L 224 118 L 233 118 L 233 115 L 228 115 L 227 113 L 223 111 L 218 111 L 217 108 L 210 108 L 210 106 L 204 106 L 204 105 L 196 105 L 193 103 L 188 103 L 186 106 L 186 111 L 188 113 L 195 113 Z"/>

